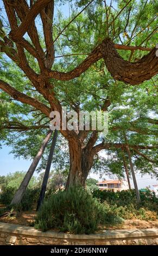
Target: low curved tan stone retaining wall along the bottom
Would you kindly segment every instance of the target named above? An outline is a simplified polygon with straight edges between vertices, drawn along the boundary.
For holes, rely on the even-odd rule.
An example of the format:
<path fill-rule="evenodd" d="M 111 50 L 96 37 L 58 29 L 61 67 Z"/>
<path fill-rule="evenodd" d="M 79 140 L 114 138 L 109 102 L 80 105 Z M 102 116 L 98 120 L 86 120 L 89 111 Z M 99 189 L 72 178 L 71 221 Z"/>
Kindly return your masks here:
<path fill-rule="evenodd" d="M 72 235 L 0 222 L 0 245 L 158 245 L 158 229 L 106 230 Z"/>

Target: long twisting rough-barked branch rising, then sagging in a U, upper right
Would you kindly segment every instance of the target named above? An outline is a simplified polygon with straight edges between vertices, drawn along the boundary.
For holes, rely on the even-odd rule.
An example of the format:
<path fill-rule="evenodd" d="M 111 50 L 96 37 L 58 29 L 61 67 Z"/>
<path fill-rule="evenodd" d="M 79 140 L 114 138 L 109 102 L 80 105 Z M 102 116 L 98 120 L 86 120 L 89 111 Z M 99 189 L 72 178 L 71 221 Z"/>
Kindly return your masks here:
<path fill-rule="evenodd" d="M 158 58 L 156 57 L 156 48 L 153 48 L 146 56 L 135 63 L 130 63 L 119 56 L 116 48 L 119 50 L 131 50 L 131 46 L 121 46 L 113 44 L 110 39 L 105 39 L 89 54 L 89 56 L 77 66 L 77 68 L 65 72 L 47 70 L 39 76 L 39 81 L 45 78 L 55 78 L 56 80 L 68 81 L 80 76 L 90 66 L 96 63 L 100 58 L 104 58 L 106 68 L 110 74 L 119 81 L 132 85 L 140 84 L 149 80 L 158 72 Z M 132 47 L 133 48 L 133 47 Z M 137 50 L 137 46 L 136 46 Z M 149 49 L 148 49 L 149 50 Z"/>

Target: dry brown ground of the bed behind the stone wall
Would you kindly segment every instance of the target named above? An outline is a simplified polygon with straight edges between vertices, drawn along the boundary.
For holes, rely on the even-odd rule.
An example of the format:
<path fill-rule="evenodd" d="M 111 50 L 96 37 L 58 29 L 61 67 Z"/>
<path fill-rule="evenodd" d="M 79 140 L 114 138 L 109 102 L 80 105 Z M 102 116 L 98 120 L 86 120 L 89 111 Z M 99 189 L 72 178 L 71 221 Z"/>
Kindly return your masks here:
<path fill-rule="evenodd" d="M 1 207 L 1 206 L 0 206 Z M 34 221 L 36 211 L 25 211 L 18 214 L 16 217 L 0 217 L 1 222 L 13 223 L 19 225 L 29 226 Z M 119 224 L 115 227 L 105 227 L 105 229 L 140 229 L 140 228 L 158 228 L 157 221 L 141 221 L 141 220 L 125 220 L 123 224 Z"/>

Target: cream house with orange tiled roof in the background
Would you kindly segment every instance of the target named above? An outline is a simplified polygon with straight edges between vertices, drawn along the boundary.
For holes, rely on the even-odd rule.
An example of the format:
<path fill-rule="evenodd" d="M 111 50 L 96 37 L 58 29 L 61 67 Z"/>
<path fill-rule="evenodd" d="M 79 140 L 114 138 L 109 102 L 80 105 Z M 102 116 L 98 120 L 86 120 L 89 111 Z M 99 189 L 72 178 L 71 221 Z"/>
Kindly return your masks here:
<path fill-rule="evenodd" d="M 122 191 L 128 190 L 128 182 L 126 180 L 103 180 L 96 184 L 99 190 Z"/>

